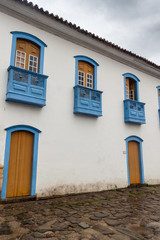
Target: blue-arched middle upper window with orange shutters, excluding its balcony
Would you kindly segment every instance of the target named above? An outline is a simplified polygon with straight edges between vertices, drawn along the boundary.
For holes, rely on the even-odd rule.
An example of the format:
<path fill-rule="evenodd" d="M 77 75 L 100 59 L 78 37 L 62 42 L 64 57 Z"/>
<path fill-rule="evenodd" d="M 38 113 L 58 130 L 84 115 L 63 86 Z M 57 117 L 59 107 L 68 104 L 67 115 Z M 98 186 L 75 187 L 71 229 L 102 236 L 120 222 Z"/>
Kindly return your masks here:
<path fill-rule="evenodd" d="M 97 66 L 98 63 L 86 56 L 75 56 L 75 85 L 97 89 Z"/>

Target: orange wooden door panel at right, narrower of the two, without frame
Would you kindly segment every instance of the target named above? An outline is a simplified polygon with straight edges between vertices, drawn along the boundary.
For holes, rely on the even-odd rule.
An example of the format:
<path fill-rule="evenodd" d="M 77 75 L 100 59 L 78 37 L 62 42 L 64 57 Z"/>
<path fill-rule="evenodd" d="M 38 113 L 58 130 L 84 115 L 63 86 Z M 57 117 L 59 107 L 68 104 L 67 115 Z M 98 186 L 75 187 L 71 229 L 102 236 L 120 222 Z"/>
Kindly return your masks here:
<path fill-rule="evenodd" d="M 141 182 L 138 142 L 135 141 L 128 142 L 128 161 L 129 161 L 130 184 L 138 184 Z"/>

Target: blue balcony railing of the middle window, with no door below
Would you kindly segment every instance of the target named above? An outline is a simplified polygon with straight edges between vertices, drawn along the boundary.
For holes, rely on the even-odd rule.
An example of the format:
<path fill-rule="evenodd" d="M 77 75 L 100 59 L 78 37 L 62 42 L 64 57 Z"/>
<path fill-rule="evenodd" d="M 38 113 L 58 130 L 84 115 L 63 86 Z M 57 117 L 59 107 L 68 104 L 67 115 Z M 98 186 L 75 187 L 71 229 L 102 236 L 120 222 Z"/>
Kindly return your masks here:
<path fill-rule="evenodd" d="M 102 91 L 75 86 L 74 113 L 102 116 Z"/>

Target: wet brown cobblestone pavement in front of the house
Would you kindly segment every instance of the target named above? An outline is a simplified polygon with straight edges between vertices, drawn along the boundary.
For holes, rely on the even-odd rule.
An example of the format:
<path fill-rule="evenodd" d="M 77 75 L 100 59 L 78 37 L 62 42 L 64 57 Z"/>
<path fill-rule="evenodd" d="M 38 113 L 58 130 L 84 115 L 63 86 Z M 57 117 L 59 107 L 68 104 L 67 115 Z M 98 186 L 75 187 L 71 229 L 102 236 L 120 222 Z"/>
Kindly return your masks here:
<path fill-rule="evenodd" d="M 160 239 L 160 186 L 0 204 L 0 239 Z"/>

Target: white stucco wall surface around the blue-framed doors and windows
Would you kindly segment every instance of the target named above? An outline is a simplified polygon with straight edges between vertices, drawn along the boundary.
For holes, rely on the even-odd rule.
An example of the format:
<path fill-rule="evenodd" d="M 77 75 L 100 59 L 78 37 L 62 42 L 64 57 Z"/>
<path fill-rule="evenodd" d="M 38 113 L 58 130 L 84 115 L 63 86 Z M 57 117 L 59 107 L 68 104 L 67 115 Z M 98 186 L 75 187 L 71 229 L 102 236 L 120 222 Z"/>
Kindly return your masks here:
<path fill-rule="evenodd" d="M 40 129 L 37 187 L 39 196 L 126 187 L 125 138 L 143 142 L 146 183 L 160 183 L 160 128 L 156 87 L 160 80 L 96 52 L 63 40 L 0 13 L 0 164 L 4 164 L 5 128 L 26 124 Z M 43 108 L 5 101 L 12 34 L 23 31 L 47 44 L 44 74 L 47 105 Z M 4 47 L 5 46 L 5 47 Z M 97 89 L 103 91 L 103 116 L 73 114 L 76 55 L 98 62 Z M 145 102 L 146 124 L 124 123 L 124 73 L 140 79 L 140 101 Z"/>

